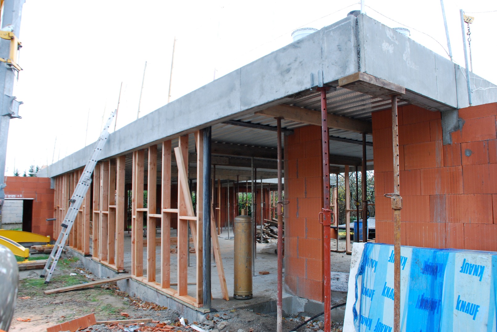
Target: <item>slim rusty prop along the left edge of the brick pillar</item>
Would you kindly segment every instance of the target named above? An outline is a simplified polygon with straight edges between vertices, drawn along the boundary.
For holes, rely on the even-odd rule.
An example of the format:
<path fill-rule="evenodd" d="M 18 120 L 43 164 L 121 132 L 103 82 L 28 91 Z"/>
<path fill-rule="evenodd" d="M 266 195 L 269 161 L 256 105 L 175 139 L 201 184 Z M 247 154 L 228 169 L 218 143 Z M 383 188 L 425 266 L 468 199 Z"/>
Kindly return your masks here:
<path fill-rule="evenodd" d="M 278 299 L 276 303 L 276 331 L 283 331 L 283 185 L 281 181 L 283 156 L 281 153 L 281 118 L 276 118 L 278 137 Z M 260 230 L 262 232 L 262 229 Z"/>

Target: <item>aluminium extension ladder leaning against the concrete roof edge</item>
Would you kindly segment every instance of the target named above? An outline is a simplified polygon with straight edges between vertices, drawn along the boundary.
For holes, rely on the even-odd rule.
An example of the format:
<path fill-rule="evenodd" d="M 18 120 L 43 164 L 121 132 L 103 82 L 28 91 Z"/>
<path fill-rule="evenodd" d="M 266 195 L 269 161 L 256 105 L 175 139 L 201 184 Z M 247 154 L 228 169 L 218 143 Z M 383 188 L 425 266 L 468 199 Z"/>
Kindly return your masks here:
<path fill-rule="evenodd" d="M 91 158 L 90 160 L 88 160 L 86 166 L 84 167 L 83 174 L 81 175 L 78 185 L 74 190 L 73 196 L 69 200 L 70 205 L 66 213 L 66 216 L 64 218 L 64 222 L 61 225 L 62 226 L 61 233 L 59 234 L 57 242 L 55 242 L 54 248 L 50 253 L 50 256 L 47 260 L 47 264 L 45 264 L 45 268 L 43 268 L 43 271 L 40 275 L 40 278 L 44 278 L 46 276 L 45 283 L 50 282 L 50 278 L 54 273 L 55 266 L 57 266 L 57 262 L 59 261 L 62 255 L 62 251 L 64 250 L 64 246 L 66 245 L 66 241 L 67 238 L 69 237 L 69 233 L 71 232 L 71 228 L 73 228 L 74 220 L 76 219 L 81 204 L 83 203 L 84 196 L 86 195 L 86 192 L 90 187 L 91 173 L 93 173 L 96 162 L 98 161 L 98 156 L 100 154 L 100 151 L 102 151 L 102 147 L 105 145 L 105 142 L 109 137 L 109 127 L 112 121 L 114 120 L 115 114 L 116 111 L 113 111 L 112 114 L 110 115 L 110 118 L 107 120 L 107 123 L 105 124 L 105 127 L 102 133 L 100 134 L 100 137 L 98 137 L 98 140 L 96 142 L 96 147 L 93 150 Z"/>

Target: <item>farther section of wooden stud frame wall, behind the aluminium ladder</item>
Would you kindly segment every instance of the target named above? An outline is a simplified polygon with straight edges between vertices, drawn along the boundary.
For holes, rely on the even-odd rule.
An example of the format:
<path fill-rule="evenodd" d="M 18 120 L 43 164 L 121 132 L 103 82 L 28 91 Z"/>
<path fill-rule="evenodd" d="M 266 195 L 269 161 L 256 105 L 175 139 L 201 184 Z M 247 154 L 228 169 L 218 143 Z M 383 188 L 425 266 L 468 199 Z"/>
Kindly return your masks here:
<path fill-rule="evenodd" d="M 92 256 L 117 272 L 124 272 L 125 164 L 126 156 L 120 156 L 95 166 L 90 188 L 93 191 L 92 204 L 91 191 L 88 190 L 68 243 L 73 250 Z M 82 169 L 76 170 L 55 179 L 54 217 L 57 220 L 54 222 L 54 239 L 59 236 L 60 224 L 67 211 L 66 202 L 69 202 L 82 173 Z"/>

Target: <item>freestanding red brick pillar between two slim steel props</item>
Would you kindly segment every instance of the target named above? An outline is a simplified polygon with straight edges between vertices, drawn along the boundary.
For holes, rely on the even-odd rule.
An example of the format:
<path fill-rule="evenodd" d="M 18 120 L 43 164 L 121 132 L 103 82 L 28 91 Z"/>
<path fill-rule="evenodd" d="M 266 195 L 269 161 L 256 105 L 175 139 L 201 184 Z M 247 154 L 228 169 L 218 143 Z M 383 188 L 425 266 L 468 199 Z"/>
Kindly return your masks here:
<path fill-rule="evenodd" d="M 297 296 L 324 301 L 321 128 L 306 126 L 285 139 L 285 284 Z"/>

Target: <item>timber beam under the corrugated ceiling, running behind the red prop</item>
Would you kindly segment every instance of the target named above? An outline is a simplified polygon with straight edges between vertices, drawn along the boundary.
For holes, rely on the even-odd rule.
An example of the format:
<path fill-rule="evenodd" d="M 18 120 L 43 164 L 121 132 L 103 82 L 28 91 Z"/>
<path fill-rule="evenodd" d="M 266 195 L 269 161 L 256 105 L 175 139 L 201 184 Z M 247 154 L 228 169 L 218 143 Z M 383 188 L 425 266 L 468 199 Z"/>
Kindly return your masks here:
<path fill-rule="evenodd" d="M 302 107 L 282 104 L 258 111 L 256 114 L 262 114 L 267 117 L 281 117 L 286 120 L 321 126 L 321 113 Z M 328 114 L 328 127 L 356 133 L 373 133 L 372 125 L 369 122 L 334 114 Z"/>

